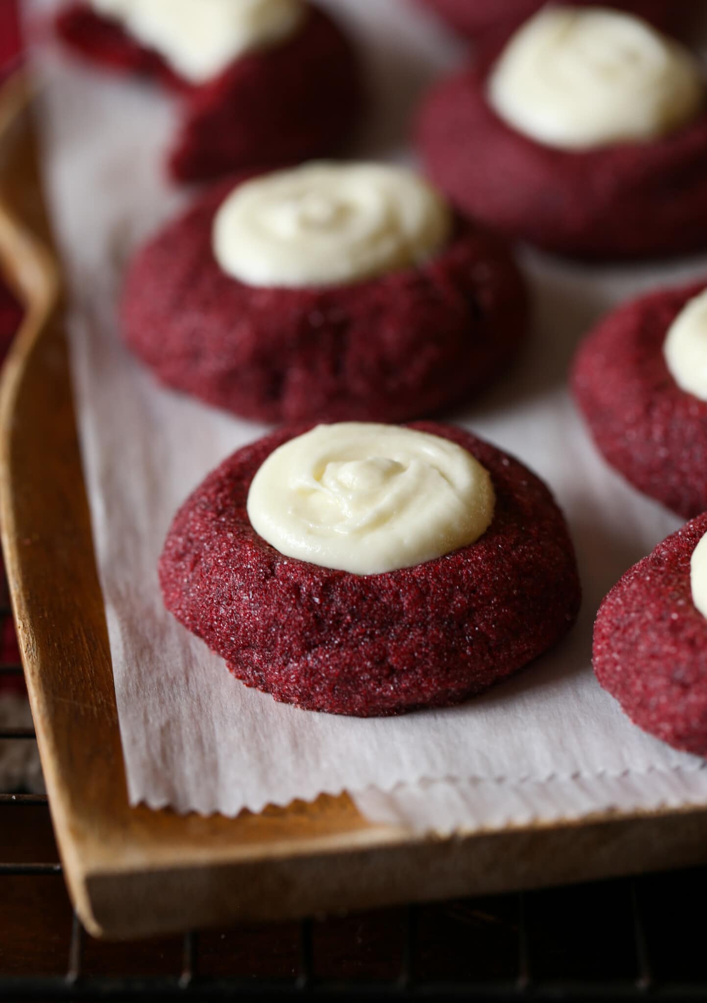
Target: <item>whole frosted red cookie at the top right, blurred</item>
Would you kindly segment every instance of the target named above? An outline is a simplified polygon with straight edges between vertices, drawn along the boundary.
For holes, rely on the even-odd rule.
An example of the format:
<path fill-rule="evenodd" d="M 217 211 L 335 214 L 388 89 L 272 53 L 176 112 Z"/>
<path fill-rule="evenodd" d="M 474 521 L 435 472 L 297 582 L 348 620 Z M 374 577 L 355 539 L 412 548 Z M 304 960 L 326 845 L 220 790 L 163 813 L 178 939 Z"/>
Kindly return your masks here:
<path fill-rule="evenodd" d="M 505 235 L 584 259 L 707 247 L 701 61 L 605 8 L 551 5 L 425 100 L 433 182 Z"/>

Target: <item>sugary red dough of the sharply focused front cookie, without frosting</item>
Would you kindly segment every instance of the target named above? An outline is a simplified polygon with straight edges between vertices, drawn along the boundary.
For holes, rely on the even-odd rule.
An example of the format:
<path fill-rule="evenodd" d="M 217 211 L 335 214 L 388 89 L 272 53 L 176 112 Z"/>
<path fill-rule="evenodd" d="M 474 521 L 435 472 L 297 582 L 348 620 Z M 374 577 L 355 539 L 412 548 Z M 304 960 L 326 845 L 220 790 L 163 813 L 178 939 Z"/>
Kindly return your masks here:
<path fill-rule="evenodd" d="M 310 710 L 361 717 L 443 707 L 526 665 L 576 619 L 572 542 L 546 485 L 459 428 L 490 474 L 493 519 L 475 543 L 411 568 L 354 575 L 286 558 L 255 532 L 253 477 L 281 429 L 234 453 L 178 513 L 159 562 L 164 603 L 247 685 Z"/>

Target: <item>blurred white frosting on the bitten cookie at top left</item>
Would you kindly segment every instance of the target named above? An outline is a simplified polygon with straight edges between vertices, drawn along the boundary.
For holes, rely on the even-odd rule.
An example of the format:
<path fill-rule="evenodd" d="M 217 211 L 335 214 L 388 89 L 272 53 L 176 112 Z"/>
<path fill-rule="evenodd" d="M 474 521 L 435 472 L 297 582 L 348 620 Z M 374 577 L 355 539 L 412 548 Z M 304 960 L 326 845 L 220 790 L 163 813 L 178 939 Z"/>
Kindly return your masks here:
<path fill-rule="evenodd" d="M 306 13 L 303 0 L 90 2 L 192 83 L 204 83 L 240 56 L 283 41 Z"/>

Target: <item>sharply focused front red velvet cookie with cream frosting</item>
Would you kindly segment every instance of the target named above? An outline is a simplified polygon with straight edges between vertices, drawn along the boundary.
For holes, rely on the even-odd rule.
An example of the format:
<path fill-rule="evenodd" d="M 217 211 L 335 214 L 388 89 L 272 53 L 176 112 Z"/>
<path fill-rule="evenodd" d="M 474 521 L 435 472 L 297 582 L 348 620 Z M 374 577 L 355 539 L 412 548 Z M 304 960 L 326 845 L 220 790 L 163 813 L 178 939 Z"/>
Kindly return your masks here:
<path fill-rule="evenodd" d="M 240 449 L 178 513 L 159 579 L 247 685 L 359 717 L 480 693 L 580 605 L 546 485 L 431 422 L 291 427 Z"/>

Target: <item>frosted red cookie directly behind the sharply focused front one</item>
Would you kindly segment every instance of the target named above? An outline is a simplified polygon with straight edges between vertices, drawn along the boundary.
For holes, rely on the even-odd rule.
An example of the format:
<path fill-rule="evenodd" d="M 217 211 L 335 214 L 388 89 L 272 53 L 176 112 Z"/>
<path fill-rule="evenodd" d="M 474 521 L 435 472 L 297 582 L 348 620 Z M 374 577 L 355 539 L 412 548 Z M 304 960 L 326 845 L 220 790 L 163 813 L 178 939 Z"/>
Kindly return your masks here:
<path fill-rule="evenodd" d="M 527 299 L 504 243 L 401 168 L 220 187 L 134 259 L 125 337 L 168 386 L 263 421 L 400 421 L 484 390 Z"/>

